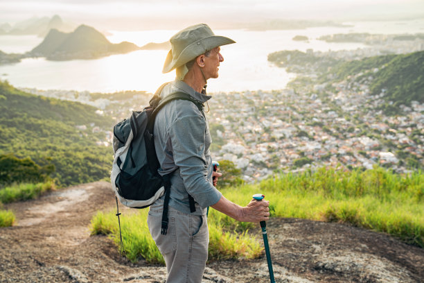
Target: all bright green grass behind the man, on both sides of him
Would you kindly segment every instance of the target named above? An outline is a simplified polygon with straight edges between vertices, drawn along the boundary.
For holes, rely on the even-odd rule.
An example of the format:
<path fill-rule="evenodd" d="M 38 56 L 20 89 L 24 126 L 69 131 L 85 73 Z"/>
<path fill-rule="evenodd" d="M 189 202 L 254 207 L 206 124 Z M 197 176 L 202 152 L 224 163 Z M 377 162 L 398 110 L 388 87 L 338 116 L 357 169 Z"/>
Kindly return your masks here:
<path fill-rule="evenodd" d="M 316 172 L 275 175 L 256 185 L 222 189 L 239 205 L 247 205 L 253 194 L 270 200 L 272 217 L 307 218 L 315 221 L 350 223 L 385 232 L 405 243 L 424 248 L 424 175 L 391 173 L 380 167 L 341 171 L 321 168 Z M 147 228 L 148 209 L 122 217 L 127 257 L 136 261 L 164 263 Z M 209 258 L 250 259 L 262 252 L 260 232 L 252 223 L 240 223 L 210 209 Z M 92 234 L 108 234 L 119 243 L 118 221 L 113 212 L 98 214 L 91 221 Z M 258 237 L 251 236 L 258 234 Z"/>

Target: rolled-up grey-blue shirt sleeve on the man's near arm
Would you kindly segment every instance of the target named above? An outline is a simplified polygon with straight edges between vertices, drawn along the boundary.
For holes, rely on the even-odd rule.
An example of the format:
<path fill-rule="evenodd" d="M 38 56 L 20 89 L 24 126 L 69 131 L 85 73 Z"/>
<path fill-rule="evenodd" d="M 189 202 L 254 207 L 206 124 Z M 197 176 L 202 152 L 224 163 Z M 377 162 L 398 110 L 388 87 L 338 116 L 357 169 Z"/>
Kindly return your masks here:
<path fill-rule="evenodd" d="M 179 117 L 170 128 L 173 158 L 188 194 L 202 207 L 215 205 L 222 194 L 207 179 L 206 120 L 199 115 Z"/>

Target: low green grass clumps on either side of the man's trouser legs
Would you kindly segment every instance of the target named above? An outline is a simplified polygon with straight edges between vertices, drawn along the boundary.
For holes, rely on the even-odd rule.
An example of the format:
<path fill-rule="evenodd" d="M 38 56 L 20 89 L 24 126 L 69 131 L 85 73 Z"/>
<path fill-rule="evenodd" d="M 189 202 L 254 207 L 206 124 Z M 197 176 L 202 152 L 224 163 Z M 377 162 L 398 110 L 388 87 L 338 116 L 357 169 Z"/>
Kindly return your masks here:
<path fill-rule="evenodd" d="M 134 210 L 129 215 L 121 216 L 125 255 L 132 262 L 143 257 L 150 263 L 165 264 L 150 236 L 147 216 L 148 209 Z M 223 230 L 216 221 L 210 221 L 208 225 L 209 259 L 251 259 L 260 256 L 263 248 L 256 237 L 249 236 L 247 232 L 233 232 L 229 226 Z M 118 219 L 114 212 L 98 212 L 91 220 L 91 234 L 107 234 L 119 246 Z"/>

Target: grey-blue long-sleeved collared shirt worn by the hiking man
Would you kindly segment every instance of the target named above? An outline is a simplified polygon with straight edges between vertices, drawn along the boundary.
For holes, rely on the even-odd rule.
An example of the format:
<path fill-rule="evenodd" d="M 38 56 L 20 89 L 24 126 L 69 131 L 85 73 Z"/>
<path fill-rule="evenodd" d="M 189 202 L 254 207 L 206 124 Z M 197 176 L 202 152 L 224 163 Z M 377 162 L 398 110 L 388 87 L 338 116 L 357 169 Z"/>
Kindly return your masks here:
<path fill-rule="evenodd" d="M 164 87 L 161 98 L 185 92 L 202 103 L 211 96 L 196 92 L 182 80 Z M 159 174 L 175 171 L 171 178 L 170 207 L 190 213 L 188 194 L 195 200 L 195 215 L 206 214 L 222 194 L 212 185 L 211 134 L 204 113 L 191 101 L 170 101 L 154 121 L 154 146 L 161 168 Z M 164 196 L 159 198 L 162 202 Z"/>

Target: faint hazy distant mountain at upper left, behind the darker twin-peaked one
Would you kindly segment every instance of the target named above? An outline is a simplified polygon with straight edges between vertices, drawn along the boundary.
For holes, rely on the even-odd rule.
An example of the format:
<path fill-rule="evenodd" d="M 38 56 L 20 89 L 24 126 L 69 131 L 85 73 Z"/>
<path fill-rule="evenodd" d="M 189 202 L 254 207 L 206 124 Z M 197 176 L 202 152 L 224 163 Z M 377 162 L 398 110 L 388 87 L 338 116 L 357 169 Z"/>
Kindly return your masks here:
<path fill-rule="evenodd" d="M 51 18 L 33 17 L 23 22 L 19 22 L 10 28 L 7 34 L 38 35 L 40 37 L 44 37 L 52 28 L 63 32 L 69 32 L 73 30 L 73 26 L 71 24 L 64 23 L 58 15 L 54 15 Z"/>

